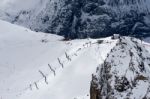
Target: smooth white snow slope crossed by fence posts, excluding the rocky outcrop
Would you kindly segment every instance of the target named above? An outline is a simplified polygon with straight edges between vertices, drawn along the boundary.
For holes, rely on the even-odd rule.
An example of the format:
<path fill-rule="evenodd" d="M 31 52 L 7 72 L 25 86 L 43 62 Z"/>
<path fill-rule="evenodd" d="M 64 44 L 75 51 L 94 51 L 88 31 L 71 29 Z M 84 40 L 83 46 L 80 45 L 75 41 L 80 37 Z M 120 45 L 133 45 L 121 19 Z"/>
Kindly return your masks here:
<path fill-rule="evenodd" d="M 91 75 L 117 42 L 62 41 L 4 21 L 0 27 L 2 99 L 89 99 Z"/>

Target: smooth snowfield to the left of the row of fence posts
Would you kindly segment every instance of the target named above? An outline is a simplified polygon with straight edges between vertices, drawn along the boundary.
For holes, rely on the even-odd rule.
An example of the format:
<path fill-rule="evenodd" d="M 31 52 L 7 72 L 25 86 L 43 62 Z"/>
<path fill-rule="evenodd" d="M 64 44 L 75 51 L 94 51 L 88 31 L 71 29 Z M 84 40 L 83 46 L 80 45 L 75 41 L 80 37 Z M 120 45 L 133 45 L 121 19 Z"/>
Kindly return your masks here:
<path fill-rule="evenodd" d="M 3 21 L 0 27 L 0 94 L 11 97 L 38 80 L 39 68 L 63 54 L 67 46 L 59 43 L 59 36 L 34 33 Z"/>

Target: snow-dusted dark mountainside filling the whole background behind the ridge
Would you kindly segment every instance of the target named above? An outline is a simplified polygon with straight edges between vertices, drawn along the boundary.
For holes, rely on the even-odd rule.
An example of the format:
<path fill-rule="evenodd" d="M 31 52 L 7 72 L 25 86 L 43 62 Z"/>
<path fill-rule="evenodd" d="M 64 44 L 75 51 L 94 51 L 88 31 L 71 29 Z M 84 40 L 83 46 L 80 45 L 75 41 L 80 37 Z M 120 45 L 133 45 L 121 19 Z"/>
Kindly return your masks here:
<path fill-rule="evenodd" d="M 3 1 L 1 19 L 66 38 L 150 34 L 149 0 Z"/>

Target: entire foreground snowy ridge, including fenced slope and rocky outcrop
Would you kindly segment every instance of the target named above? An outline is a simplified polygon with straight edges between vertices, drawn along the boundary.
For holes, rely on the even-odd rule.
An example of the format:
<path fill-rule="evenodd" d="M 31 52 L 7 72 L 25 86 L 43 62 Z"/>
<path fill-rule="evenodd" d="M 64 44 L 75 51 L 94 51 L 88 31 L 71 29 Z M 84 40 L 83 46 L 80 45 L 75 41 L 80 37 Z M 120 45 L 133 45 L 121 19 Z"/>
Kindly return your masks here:
<path fill-rule="evenodd" d="M 130 37 L 65 41 L 4 21 L 0 27 L 2 99 L 150 97 L 149 43 Z"/>

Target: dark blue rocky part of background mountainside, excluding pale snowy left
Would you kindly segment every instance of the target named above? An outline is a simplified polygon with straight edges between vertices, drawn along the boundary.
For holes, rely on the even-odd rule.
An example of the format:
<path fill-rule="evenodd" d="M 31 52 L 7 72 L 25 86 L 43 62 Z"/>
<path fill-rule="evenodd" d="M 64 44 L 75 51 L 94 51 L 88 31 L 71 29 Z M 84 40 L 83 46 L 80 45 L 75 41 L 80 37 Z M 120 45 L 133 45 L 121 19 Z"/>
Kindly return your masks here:
<path fill-rule="evenodd" d="M 147 36 L 150 27 L 144 21 L 149 12 L 145 9 L 139 11 L 136 8 L 141 2 L 140 0 L 123 0 L 122 3 L 121 0 L 66 0 L 63 9 L 60 9 L 47 30 L 52 33 L 57 32 L 66 38 L 98 38 L 114 33 Z M 133 6 L 133 9 L 122 9 L 122 6 L 127 8 Z"/>

